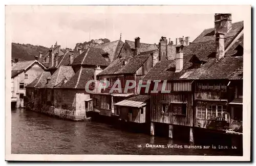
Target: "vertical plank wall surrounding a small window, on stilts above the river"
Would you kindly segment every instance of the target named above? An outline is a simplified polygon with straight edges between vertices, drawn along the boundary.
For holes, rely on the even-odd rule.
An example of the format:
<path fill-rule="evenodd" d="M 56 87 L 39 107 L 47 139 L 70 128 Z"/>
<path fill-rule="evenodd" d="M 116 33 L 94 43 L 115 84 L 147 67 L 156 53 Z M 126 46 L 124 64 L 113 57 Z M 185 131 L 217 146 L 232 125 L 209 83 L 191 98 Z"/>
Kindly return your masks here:
<path fill-rule="evenodd" d="M 173 115 L 171 112 L 162 114 L 162 101 L 186 102 L 186 115 Z M 151 121 L 193 126 L 193 93 L 152 93 L 151 94 Z"/>

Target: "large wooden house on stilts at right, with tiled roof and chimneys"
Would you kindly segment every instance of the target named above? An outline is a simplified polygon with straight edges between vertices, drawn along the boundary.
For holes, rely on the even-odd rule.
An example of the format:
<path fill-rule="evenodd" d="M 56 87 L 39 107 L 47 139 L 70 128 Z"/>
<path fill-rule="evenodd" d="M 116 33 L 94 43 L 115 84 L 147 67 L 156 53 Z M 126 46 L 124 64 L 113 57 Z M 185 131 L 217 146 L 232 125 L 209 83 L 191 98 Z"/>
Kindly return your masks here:
<path fill-rule="evenodd" d="M 215 28 L 204 30 L 189 45 L 176 45 L 176 59 L 158 62 L 144 77 L 145 81 L 160 80 L 157 90 L 167 91 L 151 93 L 153 135 L 161 124 L 169 137 L 175 136 L 175 128 L 183 127 L 192 142 L 194 127 L 229 129 L 227 123 L 223 125 L 223 120 L 229 121 L 227 102 L 232 95 L 227 92 L 228 79 L 243 64 L 243 57 L 229 52 L 243 40 L 243 21 L 231 23 L 229 14 L 216 14 L 215 18 Z M 229 29 L 221 27 L 224 23 L 220 21 L 228 21 Z M 238 45 L 236 55 L 242 50 Z M 209 121 L 213 115 L 221 125 Z"/>

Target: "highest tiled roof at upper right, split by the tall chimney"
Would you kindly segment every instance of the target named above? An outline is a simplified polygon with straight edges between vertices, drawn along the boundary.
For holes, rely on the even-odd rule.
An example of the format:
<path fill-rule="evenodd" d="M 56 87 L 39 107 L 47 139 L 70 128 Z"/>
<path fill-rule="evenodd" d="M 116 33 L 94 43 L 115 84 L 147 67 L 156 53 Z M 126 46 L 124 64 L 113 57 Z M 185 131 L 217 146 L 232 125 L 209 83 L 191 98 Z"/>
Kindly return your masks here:
<path fill-rule="evenodd" d="M 244 21 L 234 22 L 232 23 L 232 28 L 225 35 L 225 37 L 231 37 L 240 32 L 244 27 Z M 207 35 L 211 32 L 215 31 L 214 28 L 205 29 L 192 43 L 205 42 L 215 40 L 215 35 L 212 33 L 211 35 Z"/>

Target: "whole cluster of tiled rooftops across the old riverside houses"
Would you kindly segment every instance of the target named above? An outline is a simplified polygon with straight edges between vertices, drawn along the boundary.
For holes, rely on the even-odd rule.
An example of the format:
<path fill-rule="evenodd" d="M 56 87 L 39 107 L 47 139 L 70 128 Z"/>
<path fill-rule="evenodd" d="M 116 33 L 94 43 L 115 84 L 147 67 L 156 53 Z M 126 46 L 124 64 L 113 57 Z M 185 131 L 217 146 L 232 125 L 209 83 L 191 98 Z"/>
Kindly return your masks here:
<path fill-rule="evenodd" d="M 153 54 L 160 56 L 143 76 L 143 81 L 243 79 L 243 27 L 243 21 L 231 24 L 224 37 L 225 55 L 221 59 L 216 58 L 215 28 L 205 29 L 189 44 L 177 43 L 177 40 L 176 44 L 167 43 L 165 37 L 159 44 L 140 43 L 139 38 L 135 42 L 120 39 L 83 51 L 63 51 L 55 44 L 44 55 L 39 54 L 37 62 L 47 69 L 27 87 L 84 89 L 87 81 L 95 79 L 95 68 L 101 69 L 97 76 L 135 74 Z M 182 68 L 177 72 L 177 48 L 180 47 Z M 161 57 L 160 49 L 163 48 L 166 54 Z M 18 62 L 13 66 L 12 77 L 26 69 L 25 63 L 30 62 Z"/>

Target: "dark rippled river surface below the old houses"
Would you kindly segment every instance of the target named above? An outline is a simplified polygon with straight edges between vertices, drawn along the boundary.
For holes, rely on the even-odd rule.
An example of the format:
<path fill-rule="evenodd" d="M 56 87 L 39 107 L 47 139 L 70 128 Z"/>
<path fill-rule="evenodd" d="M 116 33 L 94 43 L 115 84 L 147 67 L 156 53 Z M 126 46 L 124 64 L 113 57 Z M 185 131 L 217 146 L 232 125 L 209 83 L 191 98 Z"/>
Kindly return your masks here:
<path fill-rule="evenodd" d="M 179 140 L 131 133 L 104 123 L 64 121 L 26 109 L 12 110 L 11 133 L 12 154 L 237 155 L 232 150 L 185 149 L 189 144 Z M 170 144 L 183 148 L 168 148 Z"/>

